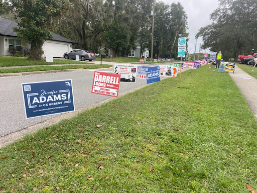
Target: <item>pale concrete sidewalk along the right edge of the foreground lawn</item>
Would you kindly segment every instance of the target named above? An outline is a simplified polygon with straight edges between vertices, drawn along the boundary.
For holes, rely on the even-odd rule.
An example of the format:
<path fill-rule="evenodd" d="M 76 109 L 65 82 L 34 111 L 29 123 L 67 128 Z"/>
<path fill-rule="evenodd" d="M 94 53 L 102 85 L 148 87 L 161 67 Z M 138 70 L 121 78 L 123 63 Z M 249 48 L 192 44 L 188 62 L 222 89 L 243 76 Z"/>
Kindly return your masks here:
<path fill-rule="evenodd" d="M 247 74 L 238 66 L 235 66 L 234 74 L 229 72 L 229 75 L 239 88 L 251 112 L 257 119 L 257 79 Z M 240 79 L 240 77 L 251 79 Z"/>

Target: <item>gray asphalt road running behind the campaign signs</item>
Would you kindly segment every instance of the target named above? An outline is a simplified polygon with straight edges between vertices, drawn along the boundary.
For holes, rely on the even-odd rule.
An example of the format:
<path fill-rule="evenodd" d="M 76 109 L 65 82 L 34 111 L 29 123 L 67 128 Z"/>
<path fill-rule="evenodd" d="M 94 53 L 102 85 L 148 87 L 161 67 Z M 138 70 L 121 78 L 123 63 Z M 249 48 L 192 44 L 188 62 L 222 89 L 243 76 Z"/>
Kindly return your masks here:
<path fill-rule="evenodd" d="M 111 69 L 97 71 L 113 72 Z M 75 110 L 103 101 L 109 96 L 92 94 L 93 70 L 72 71 L 49 74 L 35 74 L 26 76 L 12 76 L 0 78 L 0 137 L 20 131 L 29 126 L 59 116 L 43 116 L 26 119 L 22 94 L 22 83 L 72 79 Z M 135 83 L 121 82 L 119 93 L 143 86 L 146 80 L 137 79 Z"/>

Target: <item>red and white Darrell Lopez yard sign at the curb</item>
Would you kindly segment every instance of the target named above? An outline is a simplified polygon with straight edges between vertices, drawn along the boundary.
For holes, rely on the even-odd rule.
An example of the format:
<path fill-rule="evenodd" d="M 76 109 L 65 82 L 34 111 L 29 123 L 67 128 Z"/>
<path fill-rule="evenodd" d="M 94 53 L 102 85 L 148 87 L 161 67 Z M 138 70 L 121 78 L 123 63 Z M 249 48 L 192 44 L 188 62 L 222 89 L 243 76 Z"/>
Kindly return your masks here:
<path fill-rule="evenodd" d="M 118 97 L 120 74 L 94 72 L 92 93 Z"/>

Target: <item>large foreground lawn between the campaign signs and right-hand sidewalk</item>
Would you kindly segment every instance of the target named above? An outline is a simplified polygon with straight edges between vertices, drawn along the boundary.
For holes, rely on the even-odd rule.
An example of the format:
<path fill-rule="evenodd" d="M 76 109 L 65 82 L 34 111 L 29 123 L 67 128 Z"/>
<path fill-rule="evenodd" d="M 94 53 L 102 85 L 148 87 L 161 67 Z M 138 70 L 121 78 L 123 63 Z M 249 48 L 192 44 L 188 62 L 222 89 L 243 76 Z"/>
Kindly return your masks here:
<path fill-rule="evenodd" d="M 0 149 L 0 191 L 249 192 L 256 128 L 228 73 L 206 65 Z"/>

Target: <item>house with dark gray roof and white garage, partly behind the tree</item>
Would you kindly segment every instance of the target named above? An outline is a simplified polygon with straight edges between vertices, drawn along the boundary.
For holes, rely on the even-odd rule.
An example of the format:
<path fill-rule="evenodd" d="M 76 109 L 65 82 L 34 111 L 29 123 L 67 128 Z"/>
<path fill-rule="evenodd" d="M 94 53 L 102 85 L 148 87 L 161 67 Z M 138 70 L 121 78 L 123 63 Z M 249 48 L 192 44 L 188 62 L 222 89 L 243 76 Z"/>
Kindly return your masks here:
<path fill-rule="evenodd" d="M 14 21 L 0 18 L 0 56 L 10 56 L 11 53 L 8 52 L 9 48 L 21 48 L 22 42 L 17 38 L 17 33 L 13 31 L 15 27 L 18 27 L 18 24 Z M 75 42 L 59 36 L 53 33 L 52 39 L 47 39 L 42 46 L 44 55 L 52 55 L 53 57 L 63 57 L 65 52 L 72 51 L 72 45 Z M 27 43 L 25 48 L 30 48 L 30 45 Z"/>

